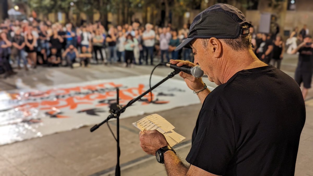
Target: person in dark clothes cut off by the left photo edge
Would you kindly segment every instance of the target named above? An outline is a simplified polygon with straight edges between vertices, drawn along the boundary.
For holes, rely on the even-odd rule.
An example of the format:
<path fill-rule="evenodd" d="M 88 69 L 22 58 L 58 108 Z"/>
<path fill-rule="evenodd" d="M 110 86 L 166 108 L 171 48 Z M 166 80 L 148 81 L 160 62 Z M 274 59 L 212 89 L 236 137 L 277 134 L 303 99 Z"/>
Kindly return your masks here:
<path fill-rule="evenodd" d="M 9 63 L 9 60 L 7 59 L 8 48 L 11 47 L 12 44 L 6 37 L 7 36 L 4 32 L 0 33 L 0 66 L 5 71 L 4 78 L 16 74 Z"/>

